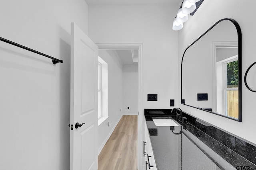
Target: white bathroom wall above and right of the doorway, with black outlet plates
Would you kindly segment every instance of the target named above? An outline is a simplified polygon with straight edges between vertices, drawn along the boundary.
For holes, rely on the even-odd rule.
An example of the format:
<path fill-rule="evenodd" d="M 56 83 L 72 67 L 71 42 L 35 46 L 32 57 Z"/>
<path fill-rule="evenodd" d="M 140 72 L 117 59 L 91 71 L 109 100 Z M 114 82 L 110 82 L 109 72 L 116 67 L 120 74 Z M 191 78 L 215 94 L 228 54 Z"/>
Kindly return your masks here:
<path fill-rule="evenodd" d="M 90 5 L 88 32 L 95 43 L 143 43 L 142 108 L 170 108 L 177 99 L 178 32 L 170 5 Z M 158 101 L 147 101 L 157 93 Z M 177 105 L 176 100 L 175 104 Z"/>

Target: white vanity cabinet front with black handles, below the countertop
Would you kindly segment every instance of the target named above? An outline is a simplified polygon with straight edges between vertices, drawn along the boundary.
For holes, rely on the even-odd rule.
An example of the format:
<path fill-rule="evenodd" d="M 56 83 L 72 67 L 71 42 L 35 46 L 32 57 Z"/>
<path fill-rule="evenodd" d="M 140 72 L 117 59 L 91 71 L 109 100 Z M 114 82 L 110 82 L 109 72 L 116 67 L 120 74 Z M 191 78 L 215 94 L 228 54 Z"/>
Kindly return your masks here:
<path fill-rule="evenodd" d="M 148 127 L 145 123 L 145 129 L 144 129 L 144 169 L 145 170 L 157 170 L 156 168 L 156 161 L 154 158 L 154 153 L 153 153 L 153 149 L 152 149 L 152 145 L 151 145 L 151 141 L 150 141 L 150 136 L 149 136 L 149 132 L 148 132 Z"/>

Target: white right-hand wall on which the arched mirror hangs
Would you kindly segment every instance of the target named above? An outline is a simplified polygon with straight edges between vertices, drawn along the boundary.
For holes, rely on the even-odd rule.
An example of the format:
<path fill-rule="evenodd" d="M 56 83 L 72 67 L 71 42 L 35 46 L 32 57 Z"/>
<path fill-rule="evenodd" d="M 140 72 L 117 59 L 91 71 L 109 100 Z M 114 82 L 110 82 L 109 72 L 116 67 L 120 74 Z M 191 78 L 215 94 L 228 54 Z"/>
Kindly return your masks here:
<path fill-rule="evenodd" d="M 243 80 L 246 69 L 255 62 L 254 47 L 256 46 L 256 41 L 254 35 L 256 23 L 253 21 L 256 20 L 256 16 L 253 12 L 254 6 L 256 6 L 256 1 L 254 0 L 205 0 L 194 16 L 189 16 L 189 20 L 184 23 L 183 29 L 178 31 L 178 63 L 181 63 L 184 50 L 216 21 L 222 18 L 233 18 L 238 22 L 242 30 L 242 122 L 233 121 L 181 104 L 180 107 L 199 119 L 256 144 L 256 136 L 252 135 L 255 128 L 254 120 L 256 119 L 256 114 L 254 113 L 256 93 L 250 92 L 244 85 Z M 180 73 L 180 69 L 178 71 Z M 251 88 L 254 89 L 256 89 L 256 80 L 253 77 L 255 74 L 256 69 L 252 69 L 250 70 L 250 76 L 248 75 L 248 84 L 250 83 Z"/>

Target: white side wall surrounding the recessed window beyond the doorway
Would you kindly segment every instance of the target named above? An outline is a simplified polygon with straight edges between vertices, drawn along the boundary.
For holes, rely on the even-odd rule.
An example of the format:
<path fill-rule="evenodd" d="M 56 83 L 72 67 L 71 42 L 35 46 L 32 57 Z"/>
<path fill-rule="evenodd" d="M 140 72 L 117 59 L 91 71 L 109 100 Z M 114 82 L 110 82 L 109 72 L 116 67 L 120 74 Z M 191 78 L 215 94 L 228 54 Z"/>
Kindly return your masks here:
<path fill-rule="evenodd" d="M 99 50 L 99 56 L 108 64 L 108 119 L 98 129 L 99 152 L 119 122 L 122 112 L 122 63 L 113 50 Z M 108 122 L 110 126 L 108 126 Z"/>

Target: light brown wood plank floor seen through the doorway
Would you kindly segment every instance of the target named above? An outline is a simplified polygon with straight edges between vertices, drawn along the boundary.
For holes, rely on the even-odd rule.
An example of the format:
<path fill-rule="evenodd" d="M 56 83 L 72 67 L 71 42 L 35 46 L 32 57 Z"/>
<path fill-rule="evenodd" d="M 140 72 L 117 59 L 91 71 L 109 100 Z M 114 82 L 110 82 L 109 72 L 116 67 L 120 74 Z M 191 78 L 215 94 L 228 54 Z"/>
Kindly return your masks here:
<path fill-rule="evenodd" d="M 98 170 L 137 170 L 137 115 L 123 115 L 98 156 Z"/>

